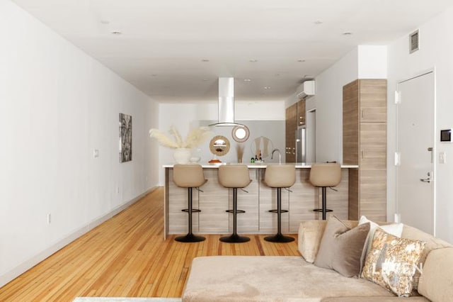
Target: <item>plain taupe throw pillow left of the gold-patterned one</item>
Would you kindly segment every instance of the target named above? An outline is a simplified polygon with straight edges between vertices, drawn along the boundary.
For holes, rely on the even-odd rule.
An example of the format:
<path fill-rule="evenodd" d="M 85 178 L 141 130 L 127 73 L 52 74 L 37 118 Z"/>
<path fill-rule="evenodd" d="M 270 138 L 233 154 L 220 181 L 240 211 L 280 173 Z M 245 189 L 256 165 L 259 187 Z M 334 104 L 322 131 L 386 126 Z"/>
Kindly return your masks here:
<path fill-rule="evenodd" d="M 336 216 L 331 216 L 327 221 L 314 265 L 334 269 L 343 276 L 358 276 L 360 257 L 368 232 L 369 223 L 351 229 Z"/>

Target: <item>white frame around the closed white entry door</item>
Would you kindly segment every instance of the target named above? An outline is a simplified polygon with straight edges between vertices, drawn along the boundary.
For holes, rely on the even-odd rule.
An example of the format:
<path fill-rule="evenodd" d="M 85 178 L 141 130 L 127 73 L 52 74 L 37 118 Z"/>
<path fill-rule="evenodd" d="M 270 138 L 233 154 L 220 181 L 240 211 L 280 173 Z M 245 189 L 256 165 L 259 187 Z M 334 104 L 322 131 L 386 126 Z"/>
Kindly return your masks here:
<path fill-rule="evenodd" d="M 408 82 L 408 81 L 411 81 L 411 79 L 416 79 L 418 77 L 423 77 L 427 74 L 431 74 L 433 75 L 433 87 L 434 87 L 434 95 L 433 95 L 433 100 L 432 100 L 432 106 L 434 108 L 432 108 L 432 112 L 434 114 L 434 116 L 432 117 L 432 122 L 433 122 L 433 125 L 432 125 L 432 206 L 433 206 L 433 211 L 432 211 L 432 214 L 433 214 L 433 217 L 432 217 L 432 229 L 433 229 L 433 233 L 434 235 L 436 236 L 437 235 L 437 147 L 436 147 L 436 133 L 437 133 L 437 123 L 436 123 L 436 117 L 437 117 L 437 111 L 436 111 L 436 104 L 437 104 L 437 78 L 436 78 L 436 71 L 435 71 L 435 67 L 432 67 L 430 69 L 425 69 L 423 70 L 422 72 L 416 72 L 412 77 L 409 77 L 409 78 L 406 78 L 406 79 L 401 79 L 399 81 L 396 81 L 396 93 L 399 90 L 400 88 L 400 85 L 405 83 L 405 82 Z M 396 144 L 395 144 L 395 147 L 396 147 L 396 152 L 395 152 L 395 157 L 396 157 L 396 153 L 399 151 L 399 141 L 398 141 L 398 133 L 399 133 L 399 129 L 398 129 L 398 111 L 399 111 L 399 107 L 398 107 L 398 104 L 396 104 L 396 97 L 395 97 L 395 105 L 396 105 L 396 135 L 395 135 L 395 140 L 396 140 Z M 398 174 L 399 174 L 399 169 L 398 169 L 398 164 L 396 164 L 395 162 L 395 166 L 396 166 L 396 171 L 395 171 L 395 213 L 396 215 L 398 215 L 399 217 L 399 208 L 398 208 L 398 193 L 399 193 L 399 189 L 398 189 Z M 397 219 L 395 219 L 397 220 Z M 399 222 L 399 220 L 397 221 Z"/>

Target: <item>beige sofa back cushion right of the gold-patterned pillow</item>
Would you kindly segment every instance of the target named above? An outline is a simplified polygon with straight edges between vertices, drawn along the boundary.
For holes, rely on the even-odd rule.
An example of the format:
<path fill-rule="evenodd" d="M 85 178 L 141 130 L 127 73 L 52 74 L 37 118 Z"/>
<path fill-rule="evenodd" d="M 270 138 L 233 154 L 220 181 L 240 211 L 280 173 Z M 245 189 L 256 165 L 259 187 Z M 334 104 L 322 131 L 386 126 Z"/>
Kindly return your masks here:
<path fill-rule="evenodd" d="M 432 250 L 426 257 L 418 292 L 432 301 L 452 301 L 453 247 Z"/>

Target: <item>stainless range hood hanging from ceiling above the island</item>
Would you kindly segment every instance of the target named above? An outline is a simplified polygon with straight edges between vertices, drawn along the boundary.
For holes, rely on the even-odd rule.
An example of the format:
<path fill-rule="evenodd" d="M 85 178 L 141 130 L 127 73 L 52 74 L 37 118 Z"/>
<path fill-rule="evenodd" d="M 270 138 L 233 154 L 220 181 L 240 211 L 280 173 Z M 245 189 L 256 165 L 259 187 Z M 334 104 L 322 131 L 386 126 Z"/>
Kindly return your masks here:
<path fill-rule="evenodd" d="M 219 77 L 219 122 L 212 125 L 242 125 L 234 122 L 234 77 Z"/>

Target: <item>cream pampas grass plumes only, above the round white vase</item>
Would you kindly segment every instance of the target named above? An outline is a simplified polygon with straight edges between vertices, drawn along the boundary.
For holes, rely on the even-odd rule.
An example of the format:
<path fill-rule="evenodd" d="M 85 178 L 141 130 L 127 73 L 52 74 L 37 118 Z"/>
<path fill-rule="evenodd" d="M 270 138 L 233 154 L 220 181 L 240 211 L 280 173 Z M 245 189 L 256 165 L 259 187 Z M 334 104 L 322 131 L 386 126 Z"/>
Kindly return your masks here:
<path fill-rule="evenodd" d="M 200 127 L 190 130 L 187 138 L 183 140 L 176 127 L 172 126 L 169 132 L 171 136 L 153 128 L 149 130 L 149 136 L 155 138 L 164 147 L 193 148 L 201 145 L 211 134 L 210 128 Z"/>

